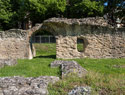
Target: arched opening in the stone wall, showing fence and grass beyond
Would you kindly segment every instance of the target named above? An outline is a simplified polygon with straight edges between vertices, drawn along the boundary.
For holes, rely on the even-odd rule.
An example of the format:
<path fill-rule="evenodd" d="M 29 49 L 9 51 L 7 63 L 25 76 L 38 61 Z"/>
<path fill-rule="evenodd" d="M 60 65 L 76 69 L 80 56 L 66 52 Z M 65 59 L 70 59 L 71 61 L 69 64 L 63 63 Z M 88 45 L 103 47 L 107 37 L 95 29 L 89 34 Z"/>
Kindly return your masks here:
<path fill-rule="evenodd" d="M 30 36 L 29 59 L 56 58 L 56 38 L 50 31 L 39 29 Z"/>

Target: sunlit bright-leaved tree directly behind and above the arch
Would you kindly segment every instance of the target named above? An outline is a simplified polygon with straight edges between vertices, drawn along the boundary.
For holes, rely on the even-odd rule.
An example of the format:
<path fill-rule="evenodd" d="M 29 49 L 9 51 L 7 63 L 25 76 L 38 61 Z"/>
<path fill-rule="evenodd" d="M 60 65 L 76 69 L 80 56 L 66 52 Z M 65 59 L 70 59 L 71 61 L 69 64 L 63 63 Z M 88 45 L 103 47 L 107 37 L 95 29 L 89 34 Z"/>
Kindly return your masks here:
<path fill-rule="evenodd" d="M 62 15 L 65 11 L 66 0 L 30 0 L 29 5 L 30 18 L 36 23 Z"/>

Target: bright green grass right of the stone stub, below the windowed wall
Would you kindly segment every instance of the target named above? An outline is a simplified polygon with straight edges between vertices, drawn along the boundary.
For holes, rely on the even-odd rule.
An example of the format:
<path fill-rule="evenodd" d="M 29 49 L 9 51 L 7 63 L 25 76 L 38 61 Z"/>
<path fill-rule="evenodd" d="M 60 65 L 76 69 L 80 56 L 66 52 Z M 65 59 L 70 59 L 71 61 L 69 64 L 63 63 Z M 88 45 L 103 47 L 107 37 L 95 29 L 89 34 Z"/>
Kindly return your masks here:
<path fill-rule="evenodd" d="M 117 68 L 125 66 L 125 59 L 74 59 L 81 66 L 89 71 L 99 72 L 103 74 L 125 74 L 125 68 Z"/>

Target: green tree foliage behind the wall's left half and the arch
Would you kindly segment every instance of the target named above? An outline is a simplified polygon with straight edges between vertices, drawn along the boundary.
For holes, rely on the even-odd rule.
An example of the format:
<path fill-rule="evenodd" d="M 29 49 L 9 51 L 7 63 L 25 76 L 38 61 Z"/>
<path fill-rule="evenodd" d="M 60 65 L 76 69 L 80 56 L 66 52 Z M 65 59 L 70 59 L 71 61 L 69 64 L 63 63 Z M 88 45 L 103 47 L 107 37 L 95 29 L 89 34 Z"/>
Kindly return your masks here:
<path fill-rule="evenodd" d="M 0 27 L 18 28 L 18 22 L 41 23 L 63 14 L 66 0 L 0 0 Z"/>

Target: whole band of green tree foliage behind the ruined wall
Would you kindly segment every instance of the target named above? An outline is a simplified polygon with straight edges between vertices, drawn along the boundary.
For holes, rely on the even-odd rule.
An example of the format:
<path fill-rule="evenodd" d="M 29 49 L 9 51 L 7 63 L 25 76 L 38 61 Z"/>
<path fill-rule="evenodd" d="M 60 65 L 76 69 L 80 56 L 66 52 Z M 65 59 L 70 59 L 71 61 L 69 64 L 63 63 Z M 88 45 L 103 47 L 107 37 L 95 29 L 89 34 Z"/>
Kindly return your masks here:
<path fill-rule="evenodd" d="M 28 20 L 33 24 L 41 23 L 51 17 L 103 16 L 104 8 L 111 9 L 103 6 L 105 1 L 107 0 L 0 0 L 0 29 L 19 28 L 19 23 Z M 115 7 L 121 0 L 111 1 L 109 5 Z"/>

